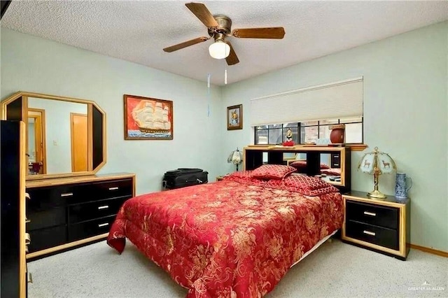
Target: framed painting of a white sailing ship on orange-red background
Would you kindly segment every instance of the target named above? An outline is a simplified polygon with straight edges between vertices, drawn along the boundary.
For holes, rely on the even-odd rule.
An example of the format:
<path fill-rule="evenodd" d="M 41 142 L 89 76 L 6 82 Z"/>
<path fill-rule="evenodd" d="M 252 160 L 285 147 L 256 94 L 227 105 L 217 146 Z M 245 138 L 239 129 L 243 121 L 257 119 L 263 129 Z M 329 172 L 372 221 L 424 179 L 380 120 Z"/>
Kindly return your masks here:
<path fill-rule="evenodd" d="M 172 140 L 173 101 L 125 94 L 125 140 Z"/>

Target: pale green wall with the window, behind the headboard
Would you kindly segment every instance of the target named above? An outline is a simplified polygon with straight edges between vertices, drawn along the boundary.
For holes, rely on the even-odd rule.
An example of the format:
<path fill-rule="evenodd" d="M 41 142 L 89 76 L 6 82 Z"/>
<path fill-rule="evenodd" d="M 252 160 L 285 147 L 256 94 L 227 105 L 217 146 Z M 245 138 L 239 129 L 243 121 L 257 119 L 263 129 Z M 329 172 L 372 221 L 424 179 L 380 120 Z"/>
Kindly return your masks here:
<path fill-rule="evenodd" d="M 228 85 L 222 108 L 243 104 L 244 129 L 223 129 L 221 155 L 251 143 L 250 99 L 363 76 L 366 151 L 388 152 L 414 180 L 411 242 L 448 251 L 447 45 L 443 22 Z M 352 154 L 351 185 L 370 191 L 372 176 L 356 169 L 362 154 Z M 379 178 L 379 190 L 394 194 L 394 187 L 395 175 Z"/>

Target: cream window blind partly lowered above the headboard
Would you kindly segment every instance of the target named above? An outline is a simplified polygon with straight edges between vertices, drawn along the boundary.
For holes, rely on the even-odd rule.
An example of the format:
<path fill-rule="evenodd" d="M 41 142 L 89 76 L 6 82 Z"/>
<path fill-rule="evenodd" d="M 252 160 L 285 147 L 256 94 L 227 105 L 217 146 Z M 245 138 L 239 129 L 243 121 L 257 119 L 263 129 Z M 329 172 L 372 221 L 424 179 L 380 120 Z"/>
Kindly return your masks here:
<path fill-rule="evenodd" d="M 251 125 L 363 115 L 363 78 L 251 99 Z"/>

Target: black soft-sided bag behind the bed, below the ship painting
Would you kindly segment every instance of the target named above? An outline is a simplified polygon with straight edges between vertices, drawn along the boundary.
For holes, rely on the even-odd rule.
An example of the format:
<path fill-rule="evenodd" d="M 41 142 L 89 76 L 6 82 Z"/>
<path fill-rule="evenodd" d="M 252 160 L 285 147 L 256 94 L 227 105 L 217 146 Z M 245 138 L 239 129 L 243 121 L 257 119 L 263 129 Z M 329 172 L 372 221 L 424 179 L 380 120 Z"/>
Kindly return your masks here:
<path fill-rule="evenodd" d="M 163 175 L 162 186 L 167 190 L 174 190 L 191 185 L 207 183 L 209 172 L 202 169 L 180 168 L 167 171 Z"/>

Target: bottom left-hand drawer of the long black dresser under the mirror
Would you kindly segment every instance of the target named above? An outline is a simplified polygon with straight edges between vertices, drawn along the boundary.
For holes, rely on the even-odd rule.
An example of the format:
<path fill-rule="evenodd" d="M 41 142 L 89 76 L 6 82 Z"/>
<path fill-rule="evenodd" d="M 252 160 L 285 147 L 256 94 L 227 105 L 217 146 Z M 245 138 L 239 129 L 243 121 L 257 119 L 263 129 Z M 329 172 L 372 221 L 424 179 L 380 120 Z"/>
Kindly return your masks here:
<path fill-rule="evenodd" d="M 67 241 L 67 227 L 60 225 L 48 229 L 36 229 L 29 231 L 31 242 L 28 246 L 28 253 L 34 253 L 38 250 L 59 246 Z"/>

